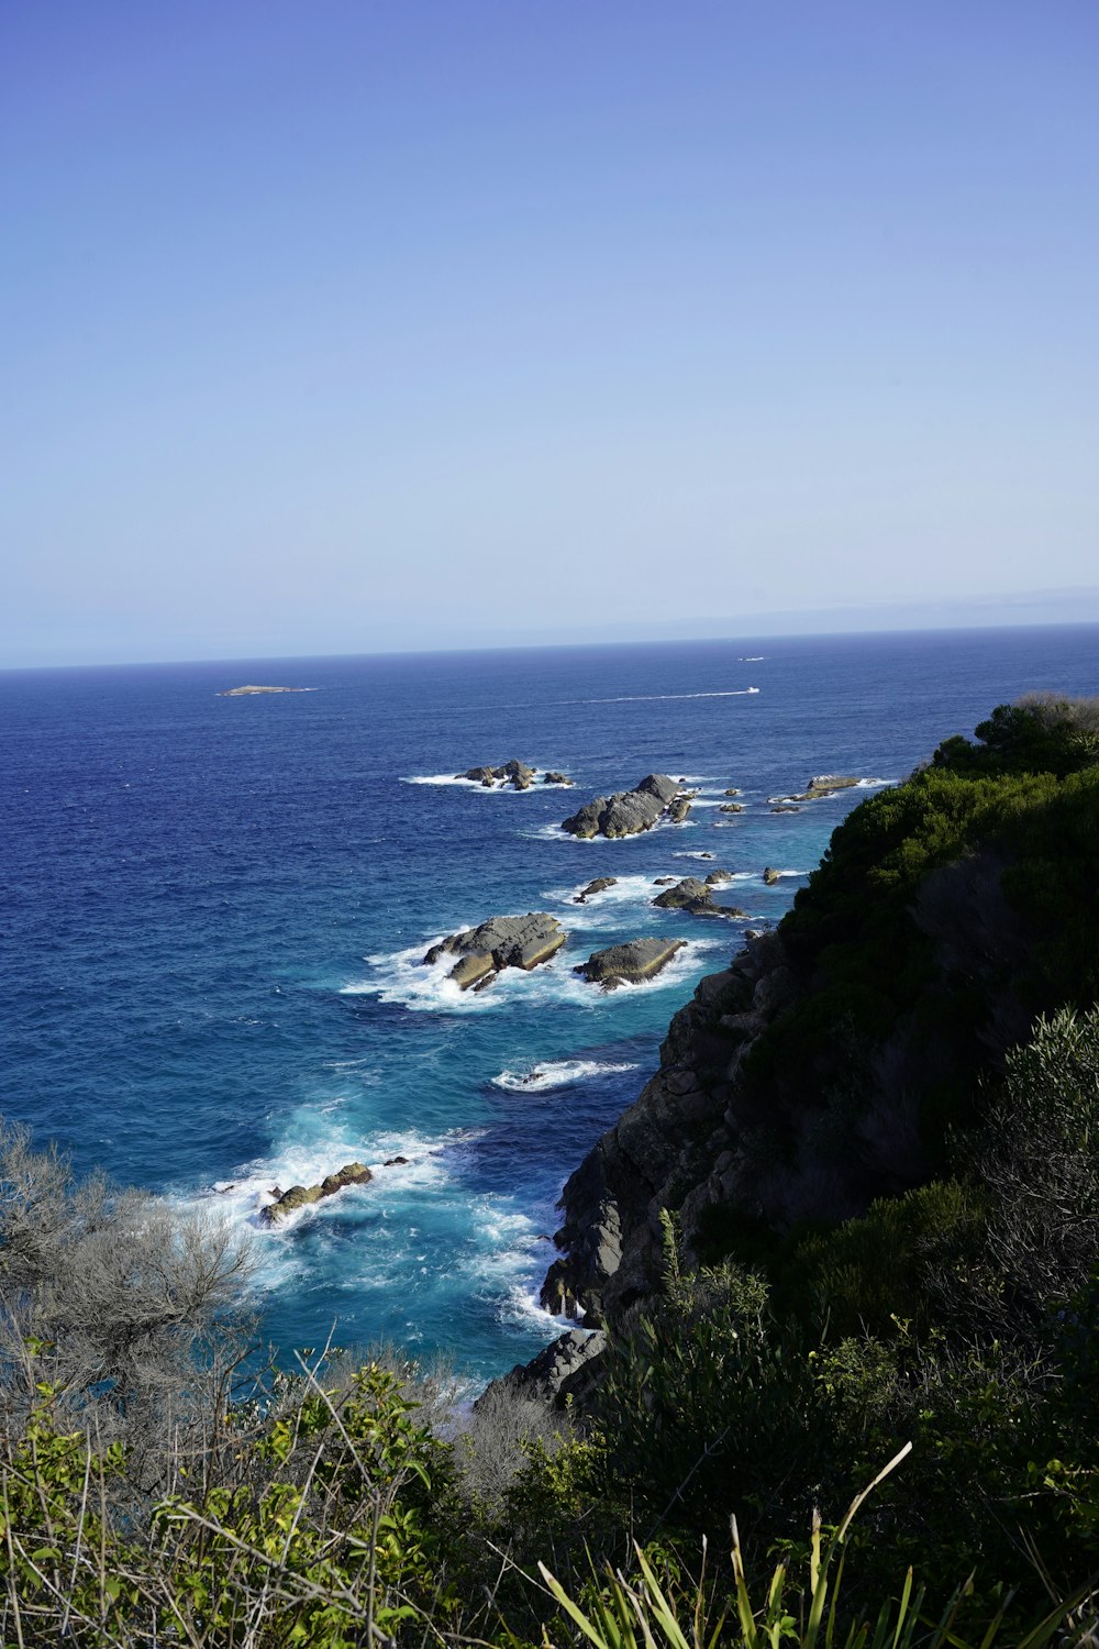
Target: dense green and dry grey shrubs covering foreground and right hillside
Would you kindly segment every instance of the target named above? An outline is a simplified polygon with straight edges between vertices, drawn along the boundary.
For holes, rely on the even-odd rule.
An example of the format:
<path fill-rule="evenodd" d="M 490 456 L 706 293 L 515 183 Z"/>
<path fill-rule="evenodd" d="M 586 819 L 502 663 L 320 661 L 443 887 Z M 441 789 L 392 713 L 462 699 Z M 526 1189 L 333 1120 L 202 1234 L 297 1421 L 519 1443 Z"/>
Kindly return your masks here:
<path fill-rule="evenodd" d="M 585 1413 L 257 1369 L 224 1232 L 8 1131 L 0 1641 L 1094 1642 L 1097 902 L 1091 701 L 852 813 L 743 1080 L 758 1149 L 812 1110 L 865 1212 L 718 1209 L 694 1270 L 667 1217 Z"/>

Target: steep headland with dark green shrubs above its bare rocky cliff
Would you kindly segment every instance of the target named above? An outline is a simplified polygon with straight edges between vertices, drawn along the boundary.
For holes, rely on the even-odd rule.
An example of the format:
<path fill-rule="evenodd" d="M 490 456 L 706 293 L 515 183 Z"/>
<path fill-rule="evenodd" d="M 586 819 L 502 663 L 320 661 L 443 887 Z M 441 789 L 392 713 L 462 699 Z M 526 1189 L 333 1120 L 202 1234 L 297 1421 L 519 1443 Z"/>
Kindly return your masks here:
<path fill-rule="evenodd" d="M 690 1263 L 778 1253 L 951 1174 L 1005 1052 L 1099 999 L 1099 704 L 1031 696 L 835 829 L 771 932 L 702 980 L 568 1179 L 544 1303 L 620 1321 Z"/>

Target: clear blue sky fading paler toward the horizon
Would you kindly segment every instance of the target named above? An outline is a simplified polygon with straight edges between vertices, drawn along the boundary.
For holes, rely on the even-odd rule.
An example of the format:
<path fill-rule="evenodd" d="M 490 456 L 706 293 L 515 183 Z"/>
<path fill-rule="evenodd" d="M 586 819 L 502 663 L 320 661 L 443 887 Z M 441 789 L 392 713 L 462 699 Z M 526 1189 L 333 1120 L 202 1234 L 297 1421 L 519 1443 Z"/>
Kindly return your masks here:
<path fill-rule="evenodd" d="M 8 0 L 0 155 L 0 665 L 1099 617 L 1096 0 Z"/>

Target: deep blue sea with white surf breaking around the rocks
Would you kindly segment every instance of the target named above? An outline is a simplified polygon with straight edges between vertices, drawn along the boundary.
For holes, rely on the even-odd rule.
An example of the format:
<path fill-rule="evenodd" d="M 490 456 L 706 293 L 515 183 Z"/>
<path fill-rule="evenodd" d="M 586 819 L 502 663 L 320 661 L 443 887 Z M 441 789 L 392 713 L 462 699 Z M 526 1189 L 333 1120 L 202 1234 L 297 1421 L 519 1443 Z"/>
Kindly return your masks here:
<path fill-rule="evenodd" d="M 217 696 L 242 683 L 315 691 Z M 718 897 L 776 920 L 867 792 L 769 798 L 903 778 L 1033 688 L 1099 691 L 1099 628 L 0 673 L 0 1110 L 254 1225 L 282 1346 L 336 1322 L 486 1379 L 559 1331 L 535 1298 L 560 1186 L 737 948 L 738 925 L 654 910 L 652 879 L 722 866 Z M 448 782 L 512 755 L 575 790 Z M 702 787 L 685 824 L 557 828 L 651 770 Z M 549 966 L 460 996 L 420 965 L 526 910 L 570 932 Z M 572 973 L 641 933 L 690 945 L 610 996 Z M 274 1184 L 353 1158 L 372 1184 L 260 1229 Z"/>

